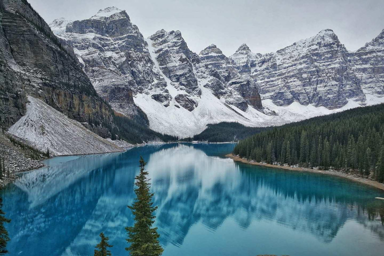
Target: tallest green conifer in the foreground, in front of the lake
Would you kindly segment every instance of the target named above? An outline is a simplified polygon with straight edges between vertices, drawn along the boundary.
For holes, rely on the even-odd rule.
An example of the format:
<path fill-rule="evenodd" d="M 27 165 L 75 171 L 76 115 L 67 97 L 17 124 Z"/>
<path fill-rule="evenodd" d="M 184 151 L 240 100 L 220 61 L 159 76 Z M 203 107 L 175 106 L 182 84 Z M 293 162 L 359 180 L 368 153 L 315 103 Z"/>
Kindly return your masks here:
<path fill-rule="evenodd" d="M 152 206 L 153 193 L 149 192 L 150 183 L 146 177 L 148 172 L 144 169 L 146 163 L 141 156 L 139 162 L 140 173 L 134 183 L 136 198 L 132 206 L 128 205 L 134 215 L 134 225 L 125 227 L 129 237 L 126 241 L 130 243 L 125 250 L 132 256 L 158 256 L 162 254 L 163 248 L 158 242 L 157 227 L 152 227 L 155 218 L 153 212 L 157 206 Z"/>

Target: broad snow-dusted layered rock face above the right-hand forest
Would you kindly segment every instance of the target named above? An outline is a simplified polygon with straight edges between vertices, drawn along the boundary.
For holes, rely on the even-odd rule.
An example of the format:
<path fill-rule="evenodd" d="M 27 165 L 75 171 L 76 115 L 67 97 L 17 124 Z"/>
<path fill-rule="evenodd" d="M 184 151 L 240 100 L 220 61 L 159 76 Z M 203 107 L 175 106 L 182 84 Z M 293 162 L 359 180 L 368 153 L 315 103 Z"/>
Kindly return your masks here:
<path fill-rule="evenodd" d="M 241 45 L 231 56 L 236 68 L 250 75 L 264 98 L 284 106 L 300 104 L 338 108 L 348 98 L 364 101 L 361 80 L 349 53 L 330 29 L 321 30 L 276 52 L 253 54 Z"/>

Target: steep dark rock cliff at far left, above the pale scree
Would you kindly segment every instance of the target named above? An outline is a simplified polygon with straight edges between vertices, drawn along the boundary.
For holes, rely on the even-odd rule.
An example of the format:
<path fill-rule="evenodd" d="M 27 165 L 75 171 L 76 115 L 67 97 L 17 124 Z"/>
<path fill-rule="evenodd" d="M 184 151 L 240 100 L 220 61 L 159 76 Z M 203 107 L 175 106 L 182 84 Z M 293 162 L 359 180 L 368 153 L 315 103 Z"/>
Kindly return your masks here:
<path fill-rule="evenodd" d="M 73 51 L 29 3 L 1 0 L 0 11 L 2 124 L 10 126 L 25 113 L 26 95 L 80 122 L 110 123 L 111 108 L 97 95 Z M 108 136 L 102 125 L 93 131 Z"/>

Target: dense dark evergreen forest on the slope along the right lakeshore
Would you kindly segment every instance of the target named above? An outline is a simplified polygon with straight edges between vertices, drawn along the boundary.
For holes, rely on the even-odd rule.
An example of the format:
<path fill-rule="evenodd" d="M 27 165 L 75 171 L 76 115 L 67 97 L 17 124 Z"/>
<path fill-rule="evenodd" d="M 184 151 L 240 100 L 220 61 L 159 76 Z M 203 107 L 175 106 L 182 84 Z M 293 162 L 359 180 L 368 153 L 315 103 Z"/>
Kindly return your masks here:
<path fill-rule="evenodd" d="M 257 162 L 357 170 L 384 181 L 384 104 L 313 117 L 254 134 L 233 154 Z"/>

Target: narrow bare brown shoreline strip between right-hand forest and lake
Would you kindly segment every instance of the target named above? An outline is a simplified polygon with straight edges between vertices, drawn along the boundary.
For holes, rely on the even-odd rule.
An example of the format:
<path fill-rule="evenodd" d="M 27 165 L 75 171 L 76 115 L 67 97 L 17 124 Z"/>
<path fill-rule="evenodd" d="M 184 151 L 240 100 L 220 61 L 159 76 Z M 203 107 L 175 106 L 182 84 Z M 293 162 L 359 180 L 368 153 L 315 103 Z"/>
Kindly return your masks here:
<path fill-rule="evenodd" d="M 269 163 L 253 162 L 253 161 L 248 161 L 246 159 L 243 159 L 238 155 L 233 155 L 232 153 L 226 154 L 225 156 L 233 159 L 234 161 L 243 162 L 243 163 L 247 163 L 247 164 L 260 165 L 260 166 L 279 168 L 279 169 L 287 169 L 287 170 L 322 173 L 322 174 L 327 174 L 327 175 L 338 176 L 338 177 L 347 178 L 347 179 L 355 181 L 355 182 L 359 182 L 359 183 L 362 183 L 365 185 L 373 186 L 373 187 L 376 187 L 378 189 L 384 190 L 384 184 L 383 183 L 380 183 L 380 182 L 374 181 L 374 180 L 370 180 L 367 178 L 357 177 L 353 174 L 348 174 L 348 173 L 344 173 L 341 171 L 317 170 L 317 169 L 309 169 L 309 168 L 302 168 L 302 167 L 279 166 L 279 165 L 274 165 L 274 164 L 269 164 Z"/>

